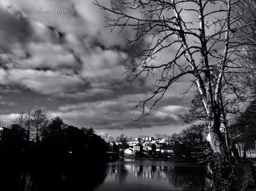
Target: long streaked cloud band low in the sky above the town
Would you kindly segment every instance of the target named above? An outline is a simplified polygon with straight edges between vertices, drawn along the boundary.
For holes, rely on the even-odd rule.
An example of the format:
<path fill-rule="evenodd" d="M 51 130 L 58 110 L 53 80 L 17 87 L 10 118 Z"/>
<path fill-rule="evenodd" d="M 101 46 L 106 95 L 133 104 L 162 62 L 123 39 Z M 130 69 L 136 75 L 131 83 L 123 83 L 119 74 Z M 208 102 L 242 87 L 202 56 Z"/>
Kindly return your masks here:
<path fill-rule="evenodd" d="M 137 95 L 137 98 L 146 95 Z M 97 129 L 135 129 L 156 128 L 162 125 L 181 125 L 178 117 L 186 110 L 184 106 L 155 107 L 151 114 L 140 117 L 141 112 L 134 109 L 137 100 L 134 95 L 123 95 L 116 100 L 83 102 L 60 106 L 60 112 L 49 112 L 51 116 L 61 116 L 69 122 L 77 122 L 80 126 L 89 125 Z M 74 121 L 75 120 L 75 121 Z"/>

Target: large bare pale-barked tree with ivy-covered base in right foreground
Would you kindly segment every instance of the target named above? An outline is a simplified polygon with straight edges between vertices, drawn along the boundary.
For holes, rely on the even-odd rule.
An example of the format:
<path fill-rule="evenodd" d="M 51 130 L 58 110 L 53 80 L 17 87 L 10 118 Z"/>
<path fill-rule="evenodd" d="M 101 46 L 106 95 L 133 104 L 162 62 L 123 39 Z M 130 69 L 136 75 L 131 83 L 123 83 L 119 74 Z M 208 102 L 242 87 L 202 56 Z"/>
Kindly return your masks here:
<path fill-rule="evenodd" d="M 221 124 L 225 122 L 224 128 L 229 126 L 227 109 L 233 108 L 236 97 L 246 94 L 244 75 L 254 74 L 252 67 L 237 56 L 237 52 L 247 50 L 246 43 L 237 40 L 236 34 L 255 22 L 241 23 L 240 17 L 231 15 L 243 2 L 128 0 L 109 1 L 106 5 L 95 1 L 109 14 L 107 20 L 112 30 L 128 28 L 133 34 L 127 46 L 131 56 L 128 79 L 154 78 L 154 91 L 139 104 L 143 107 L 142 115 L 146 105 L 153 103 L 150 112 L 178 79 L 193 77 L 192 85 L 197 87 L 208 121 L 206 139 L 214 158 L 211 170 L 215 189 L 221 190 L 233 190 L 236 184 L 230 175 L 232 167 L 225 162 L 230 163 L 230 136 L 223 136 Z M 167 60 L 162 59 L 164 53 Z M 219 174 L 222 168 L 226 174 Z"/>

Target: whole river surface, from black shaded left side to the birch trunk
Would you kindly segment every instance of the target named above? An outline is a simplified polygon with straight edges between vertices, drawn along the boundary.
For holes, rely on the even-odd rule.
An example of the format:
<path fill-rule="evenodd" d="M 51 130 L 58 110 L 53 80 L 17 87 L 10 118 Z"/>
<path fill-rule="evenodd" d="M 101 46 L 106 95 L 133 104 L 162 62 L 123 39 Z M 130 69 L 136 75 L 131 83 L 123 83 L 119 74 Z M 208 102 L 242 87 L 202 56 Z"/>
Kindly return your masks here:
<path fill-rule="evenodd" d="M 15 191 L 115 191 L 115 190 L 206 190 L 203 165 L 157 160 L 119 160 L 107 165 L 67 163 L 39 164 L 19 169 L 1 163 L 0 190 Z M 84 163 L 83 163 L 84 164 Z"/>

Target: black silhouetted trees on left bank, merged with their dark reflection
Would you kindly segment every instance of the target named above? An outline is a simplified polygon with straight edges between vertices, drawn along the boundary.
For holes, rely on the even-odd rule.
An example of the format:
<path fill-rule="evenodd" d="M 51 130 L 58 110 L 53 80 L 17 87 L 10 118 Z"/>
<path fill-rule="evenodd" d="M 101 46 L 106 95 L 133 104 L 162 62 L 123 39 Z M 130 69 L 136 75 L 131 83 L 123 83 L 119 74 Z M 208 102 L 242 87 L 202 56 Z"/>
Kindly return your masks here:
<path fill-rule="evenodd" d="M 38 120 L 33 113 L 20 114 L 14 124 L 1 130 L 0 187 L 92 190 L 103 182 L 108 149 L 104 139 L 92 128 L 67 125 L 60 117 Z"/>

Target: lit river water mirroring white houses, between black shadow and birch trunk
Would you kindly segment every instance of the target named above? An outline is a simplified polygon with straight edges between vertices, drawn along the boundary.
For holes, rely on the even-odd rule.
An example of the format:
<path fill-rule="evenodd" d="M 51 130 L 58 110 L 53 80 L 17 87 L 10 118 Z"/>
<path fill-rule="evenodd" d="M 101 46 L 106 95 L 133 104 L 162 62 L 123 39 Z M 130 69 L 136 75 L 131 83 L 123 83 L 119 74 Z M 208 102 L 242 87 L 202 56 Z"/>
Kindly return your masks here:
<path fill-rule="evenodd" d="M 126 159 L 109 163 L 103 190 L 205 190 L 203 165 L 169 161 Z"/>

